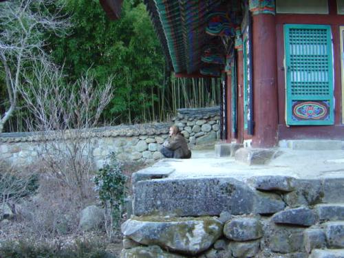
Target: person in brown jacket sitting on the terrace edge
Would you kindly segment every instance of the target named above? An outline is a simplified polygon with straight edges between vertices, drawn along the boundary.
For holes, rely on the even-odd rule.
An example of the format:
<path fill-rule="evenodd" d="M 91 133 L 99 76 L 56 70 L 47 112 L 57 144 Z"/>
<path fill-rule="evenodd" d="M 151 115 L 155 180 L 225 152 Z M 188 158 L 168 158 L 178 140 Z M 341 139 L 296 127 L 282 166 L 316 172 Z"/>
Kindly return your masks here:
<path fill-rule="evenodd" d="M 166 158 L 191 158 L 191 151 L 179 128 L 175 125 L 170 127 L 169 140 L 164 142 L 164 147 L 160 150 Z"/>

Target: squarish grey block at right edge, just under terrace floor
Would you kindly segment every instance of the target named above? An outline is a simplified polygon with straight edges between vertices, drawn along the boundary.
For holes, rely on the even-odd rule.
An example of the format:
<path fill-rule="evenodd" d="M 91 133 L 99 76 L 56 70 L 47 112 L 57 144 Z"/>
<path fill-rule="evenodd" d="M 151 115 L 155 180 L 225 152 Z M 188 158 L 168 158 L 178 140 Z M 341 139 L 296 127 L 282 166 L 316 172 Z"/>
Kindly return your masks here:
<path fill-rule="evenodd" d="M 323 202 L 342 204 L 344 202 L 344 178 L 325 178 L 323 180 Z"/>

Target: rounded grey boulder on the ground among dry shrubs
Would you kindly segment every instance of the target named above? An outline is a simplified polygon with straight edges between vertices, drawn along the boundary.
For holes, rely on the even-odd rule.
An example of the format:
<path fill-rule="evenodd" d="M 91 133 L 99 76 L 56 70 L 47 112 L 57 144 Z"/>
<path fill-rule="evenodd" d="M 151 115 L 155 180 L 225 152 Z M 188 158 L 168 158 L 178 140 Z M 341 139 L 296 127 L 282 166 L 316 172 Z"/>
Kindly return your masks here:
<path fill-rule="evenodd" d="M 87 206 L 80 213 L 79 228 L 83 231 L 98 228 L 104 220 L 104 211 L 95 205 Z"/>

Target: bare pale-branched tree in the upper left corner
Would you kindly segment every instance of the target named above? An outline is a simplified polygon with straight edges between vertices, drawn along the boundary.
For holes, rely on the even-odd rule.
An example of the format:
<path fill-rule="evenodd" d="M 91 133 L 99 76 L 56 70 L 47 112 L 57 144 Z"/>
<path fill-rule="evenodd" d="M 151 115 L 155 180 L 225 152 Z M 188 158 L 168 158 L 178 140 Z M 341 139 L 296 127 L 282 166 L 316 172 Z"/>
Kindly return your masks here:
<path fill-rule="evenodd" d="M 61 2 L 11 0 L 0 3 L 0 72 L 5 78 L 9 102 L 5 113 L 0 114 L 0 133 L 17 108 L 19 88 L 25 85 L 23 72 L 30 69 L 32 61 L 46 56 L 45 32 L 65 34 L 69 27 L 68 19 L 61 12 Z"/>

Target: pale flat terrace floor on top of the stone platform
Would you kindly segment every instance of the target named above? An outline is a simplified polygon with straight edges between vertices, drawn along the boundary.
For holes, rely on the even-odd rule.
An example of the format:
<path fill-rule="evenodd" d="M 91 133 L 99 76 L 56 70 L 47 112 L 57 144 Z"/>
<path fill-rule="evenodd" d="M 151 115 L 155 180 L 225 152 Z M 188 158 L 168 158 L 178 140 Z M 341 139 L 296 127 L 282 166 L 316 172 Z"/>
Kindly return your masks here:
<path fill-rule="evenodd" d="M 290 175 L 294 178 L 344 178 L 344 150 L 297 151 L 281 148 L 281 155 L 266 165 L 248 166 L 234 158 L 216 158 L 215 151 L 193 151 L 189 160 L 164 159 L 155 166 L 171 166 L 169 178 L 233 177 L 252 175 Z"/>

